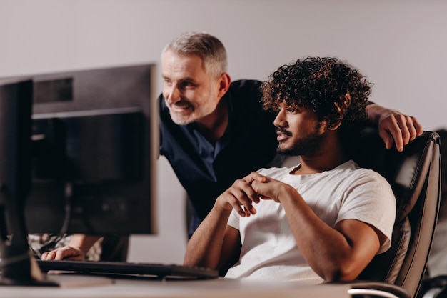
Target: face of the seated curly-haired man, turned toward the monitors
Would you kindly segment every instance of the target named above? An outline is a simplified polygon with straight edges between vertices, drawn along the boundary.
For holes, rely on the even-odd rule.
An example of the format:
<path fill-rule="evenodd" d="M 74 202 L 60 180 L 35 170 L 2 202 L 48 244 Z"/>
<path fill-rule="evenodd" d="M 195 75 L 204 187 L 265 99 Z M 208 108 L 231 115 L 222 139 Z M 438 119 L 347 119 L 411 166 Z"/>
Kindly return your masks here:
<path fill-rule="evenodd" d="M 324 121 L 307 108 L 290 109 L 286 104 L 273 124 L 277 127 L 278 153 L 286 155 L 312 155 L 319 152 L 323 144 Z"/>

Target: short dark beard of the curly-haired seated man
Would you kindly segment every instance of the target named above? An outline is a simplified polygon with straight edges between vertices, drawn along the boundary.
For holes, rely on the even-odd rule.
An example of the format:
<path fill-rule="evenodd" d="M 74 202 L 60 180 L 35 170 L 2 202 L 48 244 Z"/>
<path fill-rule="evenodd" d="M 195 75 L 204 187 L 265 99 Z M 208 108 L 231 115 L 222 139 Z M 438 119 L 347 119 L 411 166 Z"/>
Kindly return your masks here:
<path fill-rule="evenodd" d="M 296 139 L 288 148 L 281 148 L 280 146 L 278 146 L 276 152 L 289 156 L 306 156 L 318 152 L 321 149 L 321 145 L 323 144 L 323 134 L 318 133 L 318 128 L 319 127 L 317 127 L 313 133 Z M 289 132 L 288 134 L 290 135 Z"/>

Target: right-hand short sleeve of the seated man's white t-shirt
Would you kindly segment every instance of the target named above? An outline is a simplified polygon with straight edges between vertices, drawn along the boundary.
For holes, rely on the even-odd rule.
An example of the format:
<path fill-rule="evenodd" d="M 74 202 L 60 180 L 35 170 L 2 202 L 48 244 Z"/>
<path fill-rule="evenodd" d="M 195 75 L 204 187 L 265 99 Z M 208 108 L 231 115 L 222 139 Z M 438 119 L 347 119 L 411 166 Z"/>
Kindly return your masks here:
<path fill-rule="evenodd" d="M 378 229 L 386 236 L 378 254 L 386 252 L 396 219 L 396 198 L 386 179 L 371 170 L 356 177 L 341 203 L 336 222 L 343 219 L 357 219 Z"/>

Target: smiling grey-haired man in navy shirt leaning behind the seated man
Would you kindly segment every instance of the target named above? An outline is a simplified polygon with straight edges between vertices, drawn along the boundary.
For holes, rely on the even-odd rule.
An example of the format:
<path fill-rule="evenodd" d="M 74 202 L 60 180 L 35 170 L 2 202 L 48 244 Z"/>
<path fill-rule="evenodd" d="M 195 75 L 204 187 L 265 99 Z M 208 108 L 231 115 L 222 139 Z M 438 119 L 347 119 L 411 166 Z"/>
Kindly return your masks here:
<path fill-rule="evenodd" d="M 225 47 L 209 34 L 189 32 L 171 41 L 161 70 L 160 153 L 188 194 L 192 234 L 234 180 L 276 157 L 275 114 L 261 106 L 260 81 L 231 83 Z M 394 142 L 401 151 L 423 131 L 412 116 L 376 104 L 366 109 L 387 148 Z M 82 259 L 96 239 L 75 235 L 68 247 L 42 259 Z"/>

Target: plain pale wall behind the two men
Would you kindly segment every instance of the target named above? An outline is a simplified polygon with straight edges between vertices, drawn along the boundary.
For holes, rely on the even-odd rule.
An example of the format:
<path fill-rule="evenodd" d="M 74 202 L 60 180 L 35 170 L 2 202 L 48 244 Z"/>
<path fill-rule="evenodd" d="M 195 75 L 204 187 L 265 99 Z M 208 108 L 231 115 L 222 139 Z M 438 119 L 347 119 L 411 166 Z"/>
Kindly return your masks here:
<path fill-rule="evenodd" d="M 171 38 L 208 31 L 226 45 L 233 79 L 265 79 L 307 55 L 338 56 L 375 84 L 373 101 L 434 130 L 447 126 L 446 16 L 443 0 L 0 0 L 0 77 L 159 66 Z M 133 239 L 130 258 L 181 262 L 184 193 L 169 164 L 159 164 L 160 234 Z"/>

